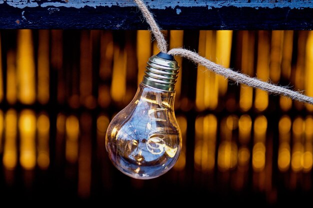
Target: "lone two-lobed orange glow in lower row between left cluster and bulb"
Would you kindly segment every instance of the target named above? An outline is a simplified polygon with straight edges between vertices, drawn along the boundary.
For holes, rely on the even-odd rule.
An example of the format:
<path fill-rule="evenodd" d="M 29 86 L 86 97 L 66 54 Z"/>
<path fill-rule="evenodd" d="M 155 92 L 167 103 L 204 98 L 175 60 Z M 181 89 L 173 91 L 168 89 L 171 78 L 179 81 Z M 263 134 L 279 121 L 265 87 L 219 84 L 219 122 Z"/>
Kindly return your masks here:
<path fill-rule="evenodd" d="M 78 158 L 79 122 L 77 117 L 71 115 L 66 118 L 65 131 L 65 158 L 69 163 L 75 163 Z"/>

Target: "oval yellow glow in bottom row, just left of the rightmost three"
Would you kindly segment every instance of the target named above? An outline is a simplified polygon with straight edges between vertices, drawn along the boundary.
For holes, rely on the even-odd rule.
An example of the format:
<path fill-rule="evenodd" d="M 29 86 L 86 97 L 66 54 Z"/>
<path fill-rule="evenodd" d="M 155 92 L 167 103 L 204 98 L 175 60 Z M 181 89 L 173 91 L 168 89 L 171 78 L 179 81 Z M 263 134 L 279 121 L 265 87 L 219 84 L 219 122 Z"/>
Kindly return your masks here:
<path fill-rule="evenodd" d="M 260 172 L 265 167 L 265 145 L 261 142 L 253 146 L 252 167 L 255 172 Z"/>

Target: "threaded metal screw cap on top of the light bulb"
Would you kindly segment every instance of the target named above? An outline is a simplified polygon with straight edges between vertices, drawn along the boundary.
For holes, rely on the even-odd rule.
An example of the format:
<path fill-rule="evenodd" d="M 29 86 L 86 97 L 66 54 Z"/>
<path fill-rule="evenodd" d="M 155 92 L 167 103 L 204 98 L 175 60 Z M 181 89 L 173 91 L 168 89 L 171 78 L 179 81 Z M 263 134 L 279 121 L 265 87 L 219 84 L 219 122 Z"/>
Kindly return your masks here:
<path fill-rule="evenodd" d="M 159 52 L 149 58 L 142 83 L 159 90 L 174 91 L 178 63 L 172 55 Z"/>

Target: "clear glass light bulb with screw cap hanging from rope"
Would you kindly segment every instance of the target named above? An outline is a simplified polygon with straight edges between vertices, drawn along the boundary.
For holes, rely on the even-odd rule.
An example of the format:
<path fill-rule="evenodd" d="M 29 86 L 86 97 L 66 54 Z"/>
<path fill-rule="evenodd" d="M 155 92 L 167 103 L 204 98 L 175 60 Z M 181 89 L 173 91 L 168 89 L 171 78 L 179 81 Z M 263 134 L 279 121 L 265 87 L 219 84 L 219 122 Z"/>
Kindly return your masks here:
<path fill-rule="evenodd" d="M 178 159 L 181 133 L 173 110 L 178 68 L 166 53 L 150 57 L 134 98 L 107 128 L 108 156 L 127 176 L 156 178 Z"/>

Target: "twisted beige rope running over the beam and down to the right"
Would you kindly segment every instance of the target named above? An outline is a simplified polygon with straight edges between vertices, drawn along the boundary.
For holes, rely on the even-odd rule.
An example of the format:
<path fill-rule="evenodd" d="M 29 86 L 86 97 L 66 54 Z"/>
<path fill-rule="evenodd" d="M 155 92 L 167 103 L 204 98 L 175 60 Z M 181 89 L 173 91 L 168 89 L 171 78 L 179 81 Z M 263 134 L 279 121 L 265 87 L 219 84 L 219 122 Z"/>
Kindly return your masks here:
<path fill-rule="evenodd" d="M 143 16 L 145 17 L 148 24 L 150 25 L 151 31 L 157 41 L 157 47 L 159 48 L 161 52 L 166 53 L 167 43 L 164 39 L 163 34 L 160 32 L 160 28 L 156 24 L 152 14 L 149 12 L 149 10 L 147 9 L 146 5 L 144 4 L 142 0 L 134 0 L 134 1 L 138 5 L 139 9 L 143 13 Z M 313 104 L 312 97 L 303 95 L 300 92 L 289 90 L 287 89 L 287 87 L 277 86 L 269 82 L 261 81 L 255 77 L 249 77 L 246 74 L 232 71 L 231 69 L 227 69 L 214 62 L 211 62 L 207 60 L 206 58 L 190 50 L 183 49 L 183 48 L 173 48 L 173 49 L 170 49 L 167 53 L 170 55 L 179 55 L 189 60 L 192 60 L 193 62 L 201 64 L 207 69 L 215 72 L 216 74 L 220 74 L 226 78 L 229 78 L 235 81 L 236 83 L 245 84 L 250 87 L 258 88 L 258 89 L 267 91 L 272 94 L 283 95 L 283 96 L 291 98 L 292 100 L 297 100 L 303 103 Z"/>

